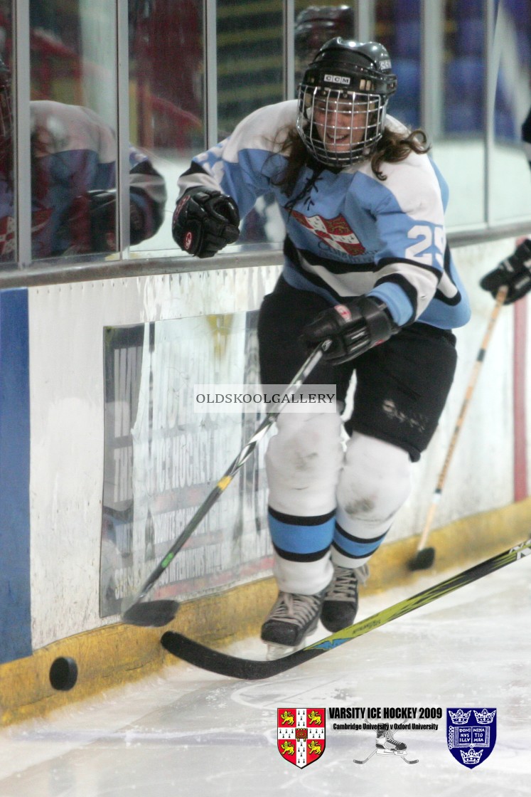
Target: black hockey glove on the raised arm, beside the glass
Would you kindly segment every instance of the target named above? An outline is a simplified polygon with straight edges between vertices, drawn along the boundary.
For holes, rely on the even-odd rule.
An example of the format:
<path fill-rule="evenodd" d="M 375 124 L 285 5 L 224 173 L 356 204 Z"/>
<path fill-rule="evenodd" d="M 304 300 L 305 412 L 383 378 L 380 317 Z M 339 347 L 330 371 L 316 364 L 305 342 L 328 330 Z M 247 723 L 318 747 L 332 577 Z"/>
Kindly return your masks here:
<path fill-rule="evenodd" d="M 240 214 L 236 202 L 212 188 L 190 188 L 174 211 L 172 234 L 181 249 L 197 257 L 213 257 L 238 240 Z"/>

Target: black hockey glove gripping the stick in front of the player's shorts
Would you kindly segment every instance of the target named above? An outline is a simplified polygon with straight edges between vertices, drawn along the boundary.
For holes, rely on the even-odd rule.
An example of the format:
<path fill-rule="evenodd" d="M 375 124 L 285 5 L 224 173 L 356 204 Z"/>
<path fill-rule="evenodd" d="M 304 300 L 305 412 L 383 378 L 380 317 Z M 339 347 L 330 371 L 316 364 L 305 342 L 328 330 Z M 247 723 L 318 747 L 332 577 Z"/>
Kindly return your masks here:
<path fill-rule="evenodd" d="M 348 363 L 398 332 L 383 301 L 359 296 L 349 304 L 323 310 L 303 329 L 303 340 L 314 347 L 331 340 L 324 357 L 333 365 Z"/>

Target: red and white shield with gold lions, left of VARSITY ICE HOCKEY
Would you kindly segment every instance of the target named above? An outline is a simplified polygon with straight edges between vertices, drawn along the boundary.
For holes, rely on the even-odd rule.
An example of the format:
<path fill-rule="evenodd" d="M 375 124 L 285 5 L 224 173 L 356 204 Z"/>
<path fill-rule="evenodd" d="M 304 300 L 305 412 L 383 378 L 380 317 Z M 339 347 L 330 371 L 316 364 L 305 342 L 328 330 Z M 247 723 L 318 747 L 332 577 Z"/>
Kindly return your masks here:
<path fill-rule="evenodd" d="M 284 760 L 303 768 L 325 751 L 326 709 L 276 709 L 277 747 Z"/>

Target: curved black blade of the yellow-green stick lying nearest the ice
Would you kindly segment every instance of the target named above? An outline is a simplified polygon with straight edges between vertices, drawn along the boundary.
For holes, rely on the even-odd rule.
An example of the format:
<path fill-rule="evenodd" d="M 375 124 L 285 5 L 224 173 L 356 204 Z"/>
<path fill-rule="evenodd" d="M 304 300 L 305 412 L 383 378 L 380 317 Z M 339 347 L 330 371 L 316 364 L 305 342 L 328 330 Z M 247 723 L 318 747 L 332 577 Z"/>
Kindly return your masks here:
<path fill-rule="evenodd" d="M 242 678 L 244 681 L 270 678 L 324 653 L 324 650 L 298 650 L 271 662 L 255 662 L 252 659 L 236 658 L 219 650 L 212 650 L 175 631 L 166 631 L 166 634 L 162 635 L 161 642 L 168 653 L 181 658 L 183 662 L 229 678 Z"/>

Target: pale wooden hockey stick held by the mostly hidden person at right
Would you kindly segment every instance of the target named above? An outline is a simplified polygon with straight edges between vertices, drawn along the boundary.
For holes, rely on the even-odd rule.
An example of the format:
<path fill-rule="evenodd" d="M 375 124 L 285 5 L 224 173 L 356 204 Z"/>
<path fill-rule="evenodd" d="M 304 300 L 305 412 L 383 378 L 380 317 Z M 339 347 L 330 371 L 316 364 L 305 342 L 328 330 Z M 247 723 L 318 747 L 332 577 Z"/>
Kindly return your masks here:
<path fill-rule="evenodd" d="M 496 302 L 494 304 L 494 307 L 492 308 L 492 312 L 490 313 L 490 320 L 489 323 L 487 324 L 482 344 L 479 347 L 478 356 L 475 359 L 474 367 L 472 368 L 472 374 L 470 375 L 470 381 L 467 386 L 465 398 L 463 399 L 461 411 L 459 412 L 459 418 L 455 423 L 455 429 L 454 433 L 451 436 L 451 441 L 450 445 L 448 446 L 446 459 L 444 460 L 443 467 L 439 473 L 439 479 L 435 487 L 435 493 L 433 493 L 433 497 L 431 499 L 431 505 L 430 508 L 428 509 L 428 515 L 426 516 L 426 522 L 424 523 L 423 532 L 420 535 L 420 540 L 416 549 L 416 554 L 413 557 L 413 559 L 408 563 L 408 567 L 410 570 L 427 570 L 428 567 L 431 567 L 431 565 L 433 564 L 433 560 L 435 559 L 435 548 L 424 548 L 424 546 L 426 545 L 426 540 L 428 540 L 428 535 L 431 532 L 431 524 L 433 523 L 433 517 L 435 516 L 435 509 L 437 508 L 441 494 L 443 493 L 443 487 L 446 482 L 448 469 L 450 467 L 451 457 L 454 454 L 455 446 L 459 438 L 459 432 L 461 431 L 461 428 L 463 426 L 463 421 L 465 419 L 465 415 L 467 414 L 472 394 L 474 393 L 474 387 L 476 385 L 476 382 L 478 381 L 478 374 L 482 366 L 482 362 L 485 359 L 486 348 L 489 344 L 490 336 L 492 335 L 492 332 L 494 330 L 494 324 L 496 324 L 499 312 L 502 308 L 504 301 L 506 300 L 506 296 L 507 296 L 507 287 L 506 285 L 502 285 L 502 287 L 498 290 L 498 293 L 496 294 Z"/>

